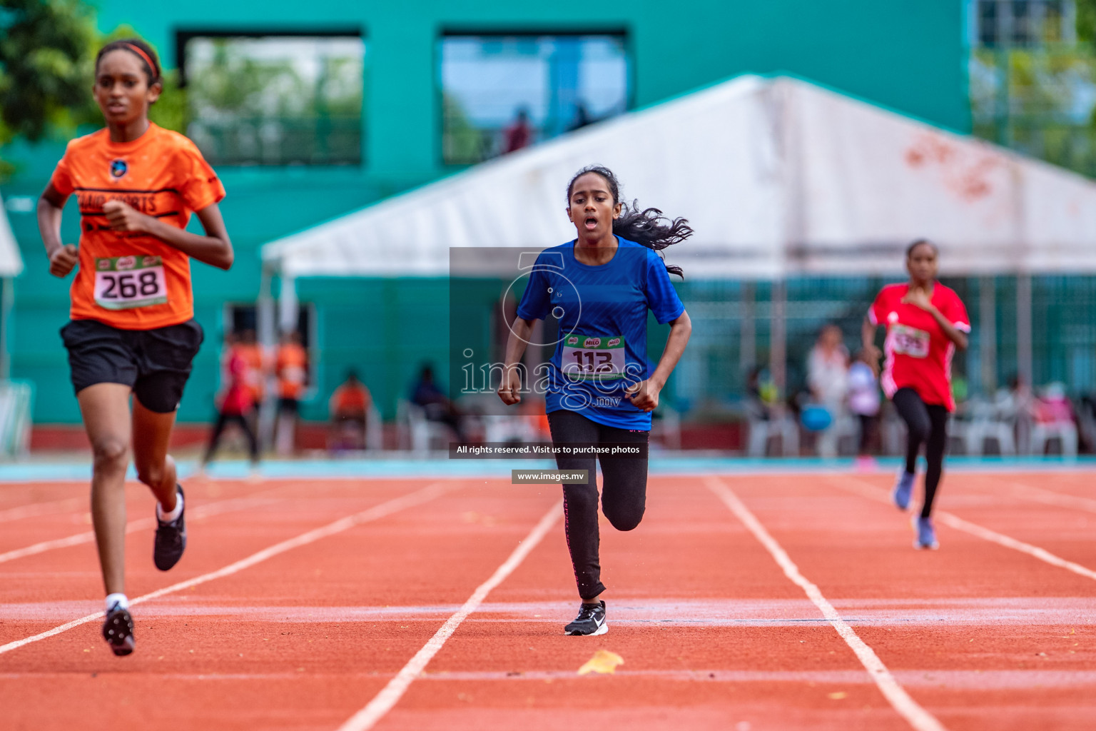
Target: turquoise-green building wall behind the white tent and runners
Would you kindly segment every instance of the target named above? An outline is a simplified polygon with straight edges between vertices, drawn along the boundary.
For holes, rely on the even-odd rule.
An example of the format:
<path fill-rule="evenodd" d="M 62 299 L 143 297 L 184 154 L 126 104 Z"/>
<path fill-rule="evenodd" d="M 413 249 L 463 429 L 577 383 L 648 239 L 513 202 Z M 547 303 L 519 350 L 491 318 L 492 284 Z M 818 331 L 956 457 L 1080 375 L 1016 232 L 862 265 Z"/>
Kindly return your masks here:
<path fill-rule="evenodd" d="M 206 330 L 206 344 L 181 421 L 210 414 L 224 305 L 255 300 L 263 243 L 456 171 L 441 162 L 436 50 L 444 33 L 624 33 L 632 107 L 741 72 L 788 71 L 945 127 L 966 132 L 970 124 L 959 0 L 640 0 L 581 8 L 541 0 L 96 4 L 101 31 L 132 25 L 159 49 L 165 66 L 175 58 L 179 31 L 346 30 L 366 41 L 361 167 L 218 169 L 228 190 L 221 208 L 237 259 L 229 273 L 194 264 L 195 316 Z M 62 150 L 62 140 L 9 146 L 5 158 L 20 172 L 3 187 L 4 197 L 38 195 Z M 77 422 L 57 334 L 67 318 L 70 279 L 46 272 L 33 213 L 9 212 L 9 218 L 26 264 L 15 283 L 12 375 L 37 384 L 36 422 Z M 62 227 L 67 241 L 76 241 L 77 224 L 70 205 Z M 328 396 L 351 366 L 390 418 L 415 367 L 426 359 L 444 362 L 444 282 L 313 279 L 298 283 L 298 296 L 315 307 L 321 354 L 317 398 L 306 406 L 306 418 L 324 415 Z"/>

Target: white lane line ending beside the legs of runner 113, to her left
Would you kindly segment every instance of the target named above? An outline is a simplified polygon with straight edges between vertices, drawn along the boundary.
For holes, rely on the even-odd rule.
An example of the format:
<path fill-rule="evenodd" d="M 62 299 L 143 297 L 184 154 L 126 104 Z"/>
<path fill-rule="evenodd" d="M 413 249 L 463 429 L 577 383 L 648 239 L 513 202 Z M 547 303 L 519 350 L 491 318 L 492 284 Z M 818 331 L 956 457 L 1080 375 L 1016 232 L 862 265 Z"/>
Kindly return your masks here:
<path fill-rule="evenodd" d="M 372 729 L 373 726 L 379 721 L 385 713 L 390 711 L 396 704 L 399 703 L 400 698 L 407 693 L 408 687 L 411 683 L 419 676 L 419 674 L 426 667 L 426 664 L 437 654 L 445 644 L 445 641 L 457 630 L 460 623 L 470 615 L 472 612 L 482 604 L 483 599 L 491 592 L 492 589 L 501 584 L 506 580 L 514 569 L 516 569 L 525 557 L 529 555 L 537 544 L 545 537 L 545 534 L 551 528 L 552 525 L 559 519 L 563 511 L 560 509 L 560 503 L 552 504 L 551 509 L 545 516 L 540 518 L 540 522 L 534 526 L 529 535 L 525 536 L 525 539 L 521 541 L 514 552 L 510 555 L 502 566 L 494 570 L 491 578 L 480 584 L 472 595 L 468 597 L 468 601 L 457 609 L 453 616 L 445 620 L 441 629 L 434 632 L 434 637 L 430 638 L 426 644 L 422 646 L 419 650 L 408 661 L 408 664 L 403 665 L 403 669 L 396 674 L 391 681 L 388 682 L 380 693 L 374 696 L 373 700 L 368 705 L 354 713 L 345 723 L 339 727 L 339 731 L 366 731 Z"/>

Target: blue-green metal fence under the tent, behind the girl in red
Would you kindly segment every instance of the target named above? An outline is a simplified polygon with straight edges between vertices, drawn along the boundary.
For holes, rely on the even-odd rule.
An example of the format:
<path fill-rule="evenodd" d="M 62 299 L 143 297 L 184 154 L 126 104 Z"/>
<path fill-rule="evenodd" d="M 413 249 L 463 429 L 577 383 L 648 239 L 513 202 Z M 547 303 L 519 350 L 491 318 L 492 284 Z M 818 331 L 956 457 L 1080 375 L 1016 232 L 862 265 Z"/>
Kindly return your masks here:
<path fill-rule="evenodd" d="M 783 284 L 686 279 L 678 290 L 694 329 L 674 379 L 680 407 L 703 411 L 706 404 L 737 402 L 755 366 L 783 367 L 785 395 L 803 389 L 808 353 L 822 325 L 838 324 L 855 353 L 868 307 L 880 287 L 894 281 L 901 277 L 801 277 Z M 943 282 L 962 298 L 972 323 L 970 347 L 952 363 L 959 396 L 992 395 L 1016 375 L 1037 388 L 1061 382 L 1077 398 L 1096 392 L 1096 322 L 1091 316 L 1096 277 Z"/>

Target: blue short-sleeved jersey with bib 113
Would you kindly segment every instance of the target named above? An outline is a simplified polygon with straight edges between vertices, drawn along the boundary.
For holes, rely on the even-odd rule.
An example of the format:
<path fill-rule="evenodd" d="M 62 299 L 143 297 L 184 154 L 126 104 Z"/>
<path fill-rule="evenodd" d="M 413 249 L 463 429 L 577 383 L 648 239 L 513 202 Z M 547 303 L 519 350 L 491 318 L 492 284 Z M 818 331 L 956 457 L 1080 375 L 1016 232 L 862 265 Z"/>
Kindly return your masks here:
<path fill-rule="evenodd" d="M 530 374 L 549 413 L 566 409 L 606 426 L 650 431 L 651 414 L 625 398 L 655 364 L 647 357 L 647 310 L 660 324 L 685 311 L 662 259 L 617 237 L 600 266 L 574 258 L 574 241 L 540 252 L 517 306 L 524 320 L 559 320 L 559 341 L 546 368 Z"/>

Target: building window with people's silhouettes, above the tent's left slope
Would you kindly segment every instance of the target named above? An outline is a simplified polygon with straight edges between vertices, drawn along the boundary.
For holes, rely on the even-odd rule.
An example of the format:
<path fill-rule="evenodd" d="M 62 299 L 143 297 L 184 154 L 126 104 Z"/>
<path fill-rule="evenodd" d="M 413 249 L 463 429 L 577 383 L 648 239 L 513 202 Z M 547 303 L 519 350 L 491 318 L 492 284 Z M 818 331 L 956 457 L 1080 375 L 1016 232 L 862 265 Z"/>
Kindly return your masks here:
<path fill-rule="evenodd" d="M 446 35 L 442 158 L 481 162 L 628 106 L 623 35 Z"/>

